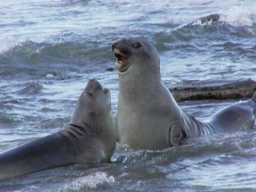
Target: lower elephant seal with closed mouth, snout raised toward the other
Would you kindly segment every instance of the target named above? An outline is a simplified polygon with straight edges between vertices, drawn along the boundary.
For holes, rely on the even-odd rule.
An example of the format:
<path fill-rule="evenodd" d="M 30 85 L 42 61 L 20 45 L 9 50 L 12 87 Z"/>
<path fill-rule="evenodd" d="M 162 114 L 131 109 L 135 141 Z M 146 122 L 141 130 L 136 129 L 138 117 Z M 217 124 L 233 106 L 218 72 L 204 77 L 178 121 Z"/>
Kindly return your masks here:
<path fill-rule="evenodd" d="M 56 166 L 108 162 L 115 146 L 109 90 L 92 79 L 65 129 L 0 154 L 0 180 Z"/>

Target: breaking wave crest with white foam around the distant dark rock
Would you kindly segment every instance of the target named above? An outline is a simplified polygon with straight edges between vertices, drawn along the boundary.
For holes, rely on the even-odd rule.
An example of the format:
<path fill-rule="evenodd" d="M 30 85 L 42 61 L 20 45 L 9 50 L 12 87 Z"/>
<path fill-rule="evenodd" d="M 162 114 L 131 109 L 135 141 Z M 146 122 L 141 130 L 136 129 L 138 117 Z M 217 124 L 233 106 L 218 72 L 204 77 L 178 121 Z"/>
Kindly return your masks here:
<path fill-rule="evenodd" d="M 204 32 L 207 34 L 217 33 L 216 35 L 224 33 L 251 37 L 256 35 L 256 9 L 253 11 L 245 7 L 244 9 L 237 8 L 237 12 L 232 9 L 225 13 L 212 13 L 176 26 L 173 29 L 168 29 L 167 33 L 177 33 L 179 31 L 191 32 L 191 35 L 197 34 L 197 36 L 191 36 L 191 38 L 204 36 Z"/>

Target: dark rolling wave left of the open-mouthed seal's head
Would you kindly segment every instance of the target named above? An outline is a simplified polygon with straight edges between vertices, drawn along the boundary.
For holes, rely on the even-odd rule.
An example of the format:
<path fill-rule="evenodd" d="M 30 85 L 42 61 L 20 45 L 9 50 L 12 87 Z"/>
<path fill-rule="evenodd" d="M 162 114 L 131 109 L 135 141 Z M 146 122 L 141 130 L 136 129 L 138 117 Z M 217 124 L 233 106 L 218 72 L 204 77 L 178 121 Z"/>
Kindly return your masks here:
<path fill-rule="evenodd" d="M 0 53 L 1 77 L 50 77 L 61 72 L 106 70 L 114 56 L 111 46 L 95 42 L 37 43 L 30 40 Z M 47 75 L 48 74 L 48 75 Z M 52 74 L 52 75 L 51 75 Z M 60 79 L 67 79 L 61 75 Z"/>

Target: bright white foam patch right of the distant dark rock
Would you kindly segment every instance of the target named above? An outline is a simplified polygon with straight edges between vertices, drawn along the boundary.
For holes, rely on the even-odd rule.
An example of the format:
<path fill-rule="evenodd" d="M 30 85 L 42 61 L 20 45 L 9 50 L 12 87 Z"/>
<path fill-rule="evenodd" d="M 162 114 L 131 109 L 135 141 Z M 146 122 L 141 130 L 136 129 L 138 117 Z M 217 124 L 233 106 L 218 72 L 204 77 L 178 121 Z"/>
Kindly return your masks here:
<path fill-rule="evenodd" d="M 223 14 L 220 20 L 232 26 L 253 26 L 256 23 L 256 8 L 253 6 L 232 6 Z"/>

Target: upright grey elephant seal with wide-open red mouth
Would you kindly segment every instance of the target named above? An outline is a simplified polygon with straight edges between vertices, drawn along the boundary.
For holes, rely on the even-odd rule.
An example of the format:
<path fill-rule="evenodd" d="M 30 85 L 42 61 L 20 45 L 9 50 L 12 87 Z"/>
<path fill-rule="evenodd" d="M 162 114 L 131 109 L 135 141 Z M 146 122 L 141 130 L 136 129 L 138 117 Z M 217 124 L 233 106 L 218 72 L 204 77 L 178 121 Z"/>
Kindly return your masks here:
<path fill-rule="evenodd" d="M 153 45 L 120 40 L 112 49 L 119 81 L 116 126 L 120 143 L 131 148 L 162 149 L 178 146 L 190 136 L 253 126 L 255 96 L 199 122 L 179 108 L 161 81 L 159 55 Z"/>

